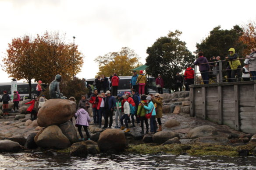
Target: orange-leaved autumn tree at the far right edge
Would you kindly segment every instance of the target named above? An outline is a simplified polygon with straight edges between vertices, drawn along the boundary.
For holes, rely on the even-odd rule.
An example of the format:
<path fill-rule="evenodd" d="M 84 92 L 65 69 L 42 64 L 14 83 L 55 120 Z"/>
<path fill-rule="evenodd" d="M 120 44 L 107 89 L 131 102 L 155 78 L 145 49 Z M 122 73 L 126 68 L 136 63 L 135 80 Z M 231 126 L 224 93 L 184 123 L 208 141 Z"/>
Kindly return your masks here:
<path fill-rule="evenodd" d="M 256 22 L 250 21 L 248 24 L 242 26 L 243 34 L 239 40 L 246 44 L 246 48 L 243 51 L 243 56 L 250 54 L 250 49 L 256 47 Z"/>

